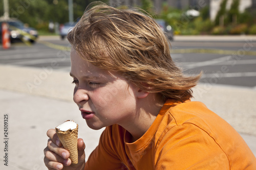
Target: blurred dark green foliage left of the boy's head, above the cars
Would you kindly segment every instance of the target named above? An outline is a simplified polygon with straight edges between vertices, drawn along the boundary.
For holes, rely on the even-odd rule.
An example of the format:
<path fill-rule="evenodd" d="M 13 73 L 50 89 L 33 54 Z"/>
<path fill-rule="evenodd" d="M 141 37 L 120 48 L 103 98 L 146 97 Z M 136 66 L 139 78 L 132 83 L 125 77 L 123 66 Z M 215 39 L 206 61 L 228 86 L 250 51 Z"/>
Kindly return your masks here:
<path fill-rule="evenodd" d="M 82 16 L 91 2 L 93 0 L 73 1 L 74 20 Z M 0 16 L 3 14 L 4 9 L 1 1 Z M 9 15 L 28 23 L 30 27 L 38 30 L 48 30 L 50 21 L 59 24 L 69 21 L 68 0 L 9 0 Z"/>

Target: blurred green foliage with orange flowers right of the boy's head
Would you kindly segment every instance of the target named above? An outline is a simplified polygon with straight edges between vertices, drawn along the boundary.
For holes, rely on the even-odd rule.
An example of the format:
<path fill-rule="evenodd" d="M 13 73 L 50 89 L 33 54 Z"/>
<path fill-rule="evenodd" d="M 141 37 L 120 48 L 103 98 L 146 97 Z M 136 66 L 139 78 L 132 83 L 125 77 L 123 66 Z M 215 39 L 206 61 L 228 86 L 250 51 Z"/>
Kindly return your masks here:
<path fill-rule="evenodd" d="M 227 10 L 227 0 L 223 0 L 214 21 L 210 20 L 208 6 L 200 9 L 199 16 L 193 17 L 185 14 L 189 8 L 178 10 L 163 5 L 162 13 L 158 17 L 165 19 L 174 28 L 175 34 L 255 34 L 256 10 L 248 8 L 240 13 L 240 3 L 242 0 L 233 0 L 230 9 Z"/>

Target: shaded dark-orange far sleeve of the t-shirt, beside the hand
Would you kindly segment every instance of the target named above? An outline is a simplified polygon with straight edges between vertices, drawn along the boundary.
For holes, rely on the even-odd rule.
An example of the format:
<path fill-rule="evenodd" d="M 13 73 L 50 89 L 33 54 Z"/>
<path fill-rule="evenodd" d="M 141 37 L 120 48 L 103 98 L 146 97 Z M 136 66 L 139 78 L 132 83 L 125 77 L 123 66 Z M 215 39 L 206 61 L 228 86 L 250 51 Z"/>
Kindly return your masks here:
<path fill-rule="evenodd" d="M 85 170 L 88 169 L 121 169 L 123 164 L 113 150 L 113 142 L 111 140 L 111 127 L 106 127 L 102 132 L 99 145 L 91 153 L 86 162 Z"/>

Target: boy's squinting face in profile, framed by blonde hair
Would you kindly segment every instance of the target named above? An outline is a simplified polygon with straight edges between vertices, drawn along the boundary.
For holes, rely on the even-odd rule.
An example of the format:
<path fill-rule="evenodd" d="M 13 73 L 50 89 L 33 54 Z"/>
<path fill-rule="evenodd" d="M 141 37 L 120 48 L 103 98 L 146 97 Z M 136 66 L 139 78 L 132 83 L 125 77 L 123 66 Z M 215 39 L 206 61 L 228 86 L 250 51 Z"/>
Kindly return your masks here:
<path fill-rule="evenodd" d="M 92 129 L 119 124 L 127 126 L 136 117 L 138 87 L 115 72 L 100 69 L 71 50 L 74 102 Z"/>

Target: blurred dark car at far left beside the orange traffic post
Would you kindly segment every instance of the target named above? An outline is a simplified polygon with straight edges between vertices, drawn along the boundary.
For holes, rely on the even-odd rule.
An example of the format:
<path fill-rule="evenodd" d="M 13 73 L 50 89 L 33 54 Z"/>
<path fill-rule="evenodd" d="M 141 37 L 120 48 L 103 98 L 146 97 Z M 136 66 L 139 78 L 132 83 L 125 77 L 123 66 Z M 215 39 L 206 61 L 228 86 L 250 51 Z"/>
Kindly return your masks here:
<path fill-rule="evenodd" d="M 34 28 L 28 27 L 16 18 L 0 18 L 0 26 L 2 26 L 3 22 L 8 23 L 11 42 L 15 40 L 26 40 L 34 43 L 38 38 L 38 33 Z M 0 28 L 0 33 L 2 33 L 2 27 Z M 2 40 L 2 34 L 0 37 Z"/>

